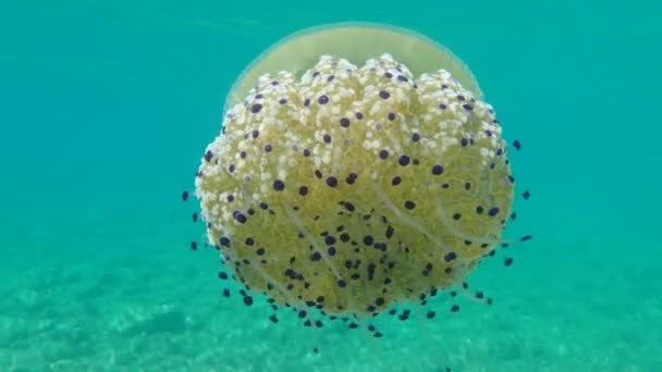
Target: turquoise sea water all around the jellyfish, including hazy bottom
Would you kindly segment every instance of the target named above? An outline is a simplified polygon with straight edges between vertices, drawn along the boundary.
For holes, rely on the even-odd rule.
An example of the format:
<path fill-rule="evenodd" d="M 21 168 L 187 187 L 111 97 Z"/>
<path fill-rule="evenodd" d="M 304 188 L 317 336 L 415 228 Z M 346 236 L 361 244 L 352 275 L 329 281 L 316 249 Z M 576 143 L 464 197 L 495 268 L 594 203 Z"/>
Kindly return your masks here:
<path fill-rule="evenodd" d="M 662 371 L 660 20 L 652 0 L 3 2 L 0 371 Z M 493 306 L 439 299 L 380 340 L 272 326 L 189 250 L 180 194 L 234 78 L 340 21 L 445 45 L 522 140 L 506 235 L 535 238 L 471 276 Z"/>

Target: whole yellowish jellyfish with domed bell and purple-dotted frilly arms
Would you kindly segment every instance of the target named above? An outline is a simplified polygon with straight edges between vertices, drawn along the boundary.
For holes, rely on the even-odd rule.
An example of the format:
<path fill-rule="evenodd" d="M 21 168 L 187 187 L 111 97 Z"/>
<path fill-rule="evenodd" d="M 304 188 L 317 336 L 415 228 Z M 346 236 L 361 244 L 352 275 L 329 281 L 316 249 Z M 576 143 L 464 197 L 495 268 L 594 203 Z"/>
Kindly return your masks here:
<path fill-rule="evenodd" d="M 470 71 L 421 36 L 296 34 L 238 78 L 196 195 L 209 240 L 280 305 L 378 314 L 454 286 L 500 241 L 506 145 Z"/>

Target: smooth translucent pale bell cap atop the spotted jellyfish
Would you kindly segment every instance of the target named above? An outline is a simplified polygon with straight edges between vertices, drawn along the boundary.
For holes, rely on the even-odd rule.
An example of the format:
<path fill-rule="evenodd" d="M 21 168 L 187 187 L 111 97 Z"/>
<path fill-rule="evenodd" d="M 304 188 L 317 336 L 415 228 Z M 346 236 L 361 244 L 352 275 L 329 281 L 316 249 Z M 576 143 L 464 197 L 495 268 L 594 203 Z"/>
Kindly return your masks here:
<path fill-rule="evenodd" d="M 427 36 L 390 25 L 339 23 L 294 33 L 263 51 L 235 80 L 224 110 L 242 102 L 265 74 L 289 71 L 301 77 L 324 54 L 363 64 L 383 53 L 407 65 L 415 75 L 444 69 L 477 99 L 482 98 L 471 71 L 448 48 Z"/>

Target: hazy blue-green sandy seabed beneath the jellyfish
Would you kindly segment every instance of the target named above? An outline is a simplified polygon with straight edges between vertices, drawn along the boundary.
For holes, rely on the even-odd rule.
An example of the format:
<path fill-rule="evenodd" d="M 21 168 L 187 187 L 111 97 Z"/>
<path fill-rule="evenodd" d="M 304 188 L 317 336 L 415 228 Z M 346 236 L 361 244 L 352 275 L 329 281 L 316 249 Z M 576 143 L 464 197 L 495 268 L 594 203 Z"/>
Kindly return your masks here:
<path fill-rule="evenodd" d="M 513 251 L 516 264 L 505 269 L 497 256 L 471 277 L 471 288 L 486 290 L 493 306 L 440 295 L 428 306 L 437 310 L 434 320 L 416 308 L 406 322 L 384 314 L 377 321 L 384 337 L 375 339 L 340 321 L 306 328 L 282 310 L 274 325 L 262 297 L 250 308 L 236 292 L 222 297 L 228 283 L 216 277 L 216 253 L 192 252 L 181 231 L 75 238 L 62 230 L 15 232 L 2 249 L 0 370 L 662 368 L 662 331 L 653 326 L 662 324 L 662 294 L 654 292 L 652 263 L 614 271 L 588 257 L 572 265 L 543 257 L 542 264 L 536 252 L 551 245 L 512 247 L 520 249 Z M 449 312 L 451 301 L 461 305 L 458 313 Z"/>

